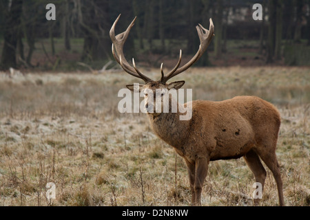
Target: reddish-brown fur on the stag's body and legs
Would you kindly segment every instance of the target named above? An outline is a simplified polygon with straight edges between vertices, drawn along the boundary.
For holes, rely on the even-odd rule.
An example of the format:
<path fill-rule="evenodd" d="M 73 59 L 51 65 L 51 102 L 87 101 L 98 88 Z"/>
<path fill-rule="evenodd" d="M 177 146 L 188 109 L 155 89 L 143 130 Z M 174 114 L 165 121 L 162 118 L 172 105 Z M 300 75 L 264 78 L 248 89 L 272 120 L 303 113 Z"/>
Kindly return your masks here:
<path fill-rule="evenodd" d="M 169 85 L 153 81 L 143 88 L 154 90 L 163 87 L 168 88 Z M 185 159 L 192 203 L 200 205 L 209 161 L 244 157 L 262 186 L 266 171 L 260 159 L 271 169 L 278 186 L 280 206 L 284 205 L 276 159 L 280 128 L 280 114 L 276 107 L 256 96 L 237 96 L 221 102 L 195 100 L 192 102 L 191 120 L 179 120 L 179 115 L 179 112 L 148 113 L 148 118 L 154 133 Z M 257 204 L 258 199 L 254 202 Z"/>

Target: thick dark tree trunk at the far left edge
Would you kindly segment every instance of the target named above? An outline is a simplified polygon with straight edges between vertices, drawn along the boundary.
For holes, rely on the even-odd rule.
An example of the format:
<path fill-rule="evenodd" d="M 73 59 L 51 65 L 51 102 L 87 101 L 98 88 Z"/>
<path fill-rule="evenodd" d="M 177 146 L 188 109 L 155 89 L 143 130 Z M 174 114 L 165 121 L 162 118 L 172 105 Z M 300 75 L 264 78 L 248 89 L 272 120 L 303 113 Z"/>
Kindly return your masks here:
<path fill-rule="evenodd" d="M 6 24 L 4 26 L 4 43 L 0 63 L 1 69 L 17 67 L 17 36 L 21 24 L 22 5 L 23 0 L 12 0 L 10 10 L 6 15 Z"/>

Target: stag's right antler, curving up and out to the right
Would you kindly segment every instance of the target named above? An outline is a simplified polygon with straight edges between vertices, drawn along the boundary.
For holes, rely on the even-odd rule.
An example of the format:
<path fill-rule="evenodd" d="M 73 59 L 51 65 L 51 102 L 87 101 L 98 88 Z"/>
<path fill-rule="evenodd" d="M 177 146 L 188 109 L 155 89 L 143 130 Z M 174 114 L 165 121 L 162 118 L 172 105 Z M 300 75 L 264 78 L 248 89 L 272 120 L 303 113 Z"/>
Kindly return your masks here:
<path fill-rule="evenodd" d="M 200 25 L 200 24 L 196 26 L 196 29 L 198 32 L 200 45 L 199 45 L 199 49 L 196 52 L 195 56 L 188 63 L 178 68 L 178 66 L 180 65 L 181 58 L 182 58 L 182 51 L 180 50 L 180 58 L 178 58 L 178 63 L 176 64 L 176 67 L 174 67 L 174 69 L 172 69 L 172 71 L 169 72 L 169 74 L 167 74 L 166 76 L 163 73 L 163 63 L 162 63 L 161 64 L 161 83 L 165 84 L 167 80 L 169 80 L 170 78 L 180 74 L 181 72 L 184 72 L 186 69 L 191 67 L 196 61 L 198 61 L 198 59 L 201 56 L 203 56 L 203 53 L 205 52 L 205 50 L 207 50 L 207 47 L 211 43 L 211 40 L 214 36 L 214 25 L 213 25 L 212 19 L 210 19 L 209 30 L 203 28 L 203 25 Z"/>

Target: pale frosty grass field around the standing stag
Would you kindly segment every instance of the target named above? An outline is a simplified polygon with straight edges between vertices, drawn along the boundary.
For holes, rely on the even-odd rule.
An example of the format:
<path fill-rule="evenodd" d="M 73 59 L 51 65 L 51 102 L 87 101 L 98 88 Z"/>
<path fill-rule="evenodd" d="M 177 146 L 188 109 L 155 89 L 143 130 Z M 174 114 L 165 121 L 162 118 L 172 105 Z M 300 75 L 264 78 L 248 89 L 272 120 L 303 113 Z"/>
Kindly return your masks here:
<path fill-rule="evenodd" d="M 149 76 L 159 78 L 159 69 Z M 255 95 L 275 104 L 285 203 L 309 206 L 309 68 L 194 68 L 180 79 L 194 100 Z M 118 90 L 135 82 L 123 72 L 0 74 L 0 204 L 188 206 L 183 159 L 152 133 L 146 115 L 118 112 Z M 276 206 L 276 183 L 266 170 L 261 205 Z M 51 201 L 48 182 L 56 186 Z M 242 158 L 211 162 L 203 206 L 251 206 L 254 182 Z"/>

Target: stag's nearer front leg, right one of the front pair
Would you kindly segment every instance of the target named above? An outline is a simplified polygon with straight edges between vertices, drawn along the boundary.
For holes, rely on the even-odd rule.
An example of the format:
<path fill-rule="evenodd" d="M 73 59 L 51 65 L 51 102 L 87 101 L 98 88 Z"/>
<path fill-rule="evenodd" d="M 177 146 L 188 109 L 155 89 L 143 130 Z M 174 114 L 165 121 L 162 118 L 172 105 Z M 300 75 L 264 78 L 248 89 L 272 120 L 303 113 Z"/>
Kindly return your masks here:
<path fill-rule="evenodd" d="M 203 181 L 205 181 L 205 177 L 207 176 L 207 170 L 209 165 L 209 158 L 200 157 L 196 159 L 195 164 L 195 183 L 194 183 L 194 190 L 195 190 L 195 205 L 201 205 L 201 192 L 203 190 Z"/>

